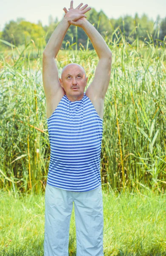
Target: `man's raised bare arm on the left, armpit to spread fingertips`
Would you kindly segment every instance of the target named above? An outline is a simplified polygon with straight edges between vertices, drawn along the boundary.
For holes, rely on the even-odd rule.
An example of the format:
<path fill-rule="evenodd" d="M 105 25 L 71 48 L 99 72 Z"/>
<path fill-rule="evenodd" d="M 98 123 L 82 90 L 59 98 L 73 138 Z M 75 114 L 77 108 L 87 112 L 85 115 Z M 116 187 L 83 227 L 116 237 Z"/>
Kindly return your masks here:
<path fill-rule="evenodd" d="M 68 20 L 72 19 L 77 21 L 82 17 L 86 17 L 85 13 L 91 9 L 86 8 L 87 5 L 80 8 L 82 5 L 83 3 L 80 3 L 79 6 L 73 9 L 73 1 L 71 1 L 69 11 L 67 11 L 66 7 L 63 8 L 65 16 L 57 25 L 57 28 L 54 30 L 43 51 L 43 87 L 47 105 L 51 104 L 52 99 L 54 99 L 58 91 L 60 91 L 60 93 L 63 91 L 58 78 L 58 69 L 55 58 L 60 50 L 63 38 L 69 29 L 70 24 Z M 63 92 L 63 94 L 65 94 L 65 92 Z"/>

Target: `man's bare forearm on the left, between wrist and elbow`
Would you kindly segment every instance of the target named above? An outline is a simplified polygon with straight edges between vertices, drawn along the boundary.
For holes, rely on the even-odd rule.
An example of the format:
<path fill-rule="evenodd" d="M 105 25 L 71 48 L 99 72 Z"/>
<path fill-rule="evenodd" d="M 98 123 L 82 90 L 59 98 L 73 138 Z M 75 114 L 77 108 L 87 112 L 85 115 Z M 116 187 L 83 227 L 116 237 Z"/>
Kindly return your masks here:
<path fill-rule="evenodd" d="M 67 30 L 69 29 L 69 26 L 69 22 L 66 20 L 66 18 L 63 18 L 52 33 L 52 36 L 50 37 L 43 51 L 43 54 L 56 58 L 62 45 L 63 38 L 65 37 Z"/>

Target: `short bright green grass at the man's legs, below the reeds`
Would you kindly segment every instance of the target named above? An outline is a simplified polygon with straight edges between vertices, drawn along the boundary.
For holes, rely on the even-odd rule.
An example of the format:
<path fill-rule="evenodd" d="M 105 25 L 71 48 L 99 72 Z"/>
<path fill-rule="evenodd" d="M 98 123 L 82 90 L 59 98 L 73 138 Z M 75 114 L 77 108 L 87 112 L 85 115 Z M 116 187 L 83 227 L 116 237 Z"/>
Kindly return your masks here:
<path fill-rule="evenodd" d="M 0 255 L 43 256 L 44 194 L 0 191 Z M 104 256 L 166 255 L 166 194 L 116 195 L 103 189 Z M 76 256 L 74 208 L 69 256 Z"/>

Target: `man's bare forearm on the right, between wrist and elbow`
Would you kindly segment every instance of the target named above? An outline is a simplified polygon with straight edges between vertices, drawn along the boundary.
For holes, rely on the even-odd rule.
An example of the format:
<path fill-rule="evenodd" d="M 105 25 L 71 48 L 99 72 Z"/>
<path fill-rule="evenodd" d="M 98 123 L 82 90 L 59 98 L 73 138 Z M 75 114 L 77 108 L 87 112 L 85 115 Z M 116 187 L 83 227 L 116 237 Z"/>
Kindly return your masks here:
<path fill-rule="evenodd" d="M 97 52 L 98 57 L 109 58 L 112 55 L 112 52 L 107 46 L 103 37 L 97 31 L 97 29 L 95 29 L 94 26 L 86 19 L 83 20 L 83 24 L 81 27 L 86 32 L 86 35 L 88 35 L 90 41 L 92 42 L 92 45 Z"/>

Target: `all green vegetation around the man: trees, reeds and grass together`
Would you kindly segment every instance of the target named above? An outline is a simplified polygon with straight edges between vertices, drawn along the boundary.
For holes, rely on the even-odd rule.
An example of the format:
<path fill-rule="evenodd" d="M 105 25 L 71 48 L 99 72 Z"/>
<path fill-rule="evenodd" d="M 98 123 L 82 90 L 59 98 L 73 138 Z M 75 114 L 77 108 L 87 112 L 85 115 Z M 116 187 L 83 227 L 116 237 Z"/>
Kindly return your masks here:
<path fill-rule="evenodd" d="M 88 15 L 87 15 L 88 16 Z M 111 19 L 92 9 L 112 50 L 105 97 L 101 178 L 104 255 L 166 255 L 166 18 Z M 42 53 L 49 26 L 23 19 L 0 32 L 0 255 L 43 255 L 44 191 L 50 159 Z M 57 56 L 94 78 L 98 57 L 70 26 Z M 72 212 L 69 255 L 76 255 Z"/>

